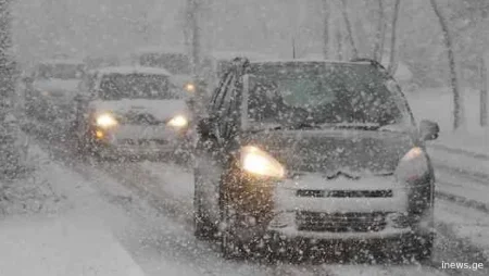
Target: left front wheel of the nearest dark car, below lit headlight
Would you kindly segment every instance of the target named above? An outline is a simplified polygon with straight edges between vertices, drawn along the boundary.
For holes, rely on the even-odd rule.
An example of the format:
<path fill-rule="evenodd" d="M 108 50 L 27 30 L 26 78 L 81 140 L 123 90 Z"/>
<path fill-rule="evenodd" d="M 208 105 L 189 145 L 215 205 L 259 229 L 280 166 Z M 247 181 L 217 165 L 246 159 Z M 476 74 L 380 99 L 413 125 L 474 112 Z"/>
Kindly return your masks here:
<path fill-rule="evenodd" d="M 243 256 L 242 244 L 236 237 L 236 212 L 230 206 L 222 208 L 221 251 L 224 259 L 240 259 Z"/>

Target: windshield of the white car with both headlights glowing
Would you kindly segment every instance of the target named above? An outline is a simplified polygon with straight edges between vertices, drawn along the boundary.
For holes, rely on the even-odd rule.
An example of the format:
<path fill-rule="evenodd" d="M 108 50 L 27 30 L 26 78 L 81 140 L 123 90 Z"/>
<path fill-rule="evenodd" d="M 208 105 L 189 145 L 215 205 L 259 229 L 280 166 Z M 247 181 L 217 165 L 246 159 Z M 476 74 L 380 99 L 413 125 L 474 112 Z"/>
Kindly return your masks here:
<path fill-rule="evenodd" d="M 177 99 L 167 76 L 145 74 L 112 74 L 102 77 L 99 97 L 118 99 Z"/>

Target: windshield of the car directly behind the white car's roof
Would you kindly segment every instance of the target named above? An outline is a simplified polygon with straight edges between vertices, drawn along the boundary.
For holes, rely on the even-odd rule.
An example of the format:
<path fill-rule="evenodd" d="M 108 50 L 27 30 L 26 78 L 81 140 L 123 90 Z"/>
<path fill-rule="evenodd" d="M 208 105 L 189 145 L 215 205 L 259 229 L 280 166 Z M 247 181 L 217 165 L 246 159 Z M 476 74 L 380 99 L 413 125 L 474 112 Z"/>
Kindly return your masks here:
<path fill-rule="evenodd" d="M 175 75 L 190 74 L 190 59 L 184 53 L 145 53 L 139 58 L 141 66 L 163 67 Z"/>

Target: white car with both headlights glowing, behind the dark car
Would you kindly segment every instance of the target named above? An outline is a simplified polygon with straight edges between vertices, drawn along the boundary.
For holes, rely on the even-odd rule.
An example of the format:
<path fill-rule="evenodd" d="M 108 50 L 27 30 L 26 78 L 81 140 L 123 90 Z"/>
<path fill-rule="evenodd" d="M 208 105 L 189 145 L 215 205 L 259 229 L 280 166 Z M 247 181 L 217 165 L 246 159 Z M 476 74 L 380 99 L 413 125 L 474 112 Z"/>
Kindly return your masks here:
<path fill-rule="evenodd" d="M 77 98 L 78 150 L 102 159 L 160 158 L 187 145 L 185 92 L 163 68 L 89 72 Z"/>

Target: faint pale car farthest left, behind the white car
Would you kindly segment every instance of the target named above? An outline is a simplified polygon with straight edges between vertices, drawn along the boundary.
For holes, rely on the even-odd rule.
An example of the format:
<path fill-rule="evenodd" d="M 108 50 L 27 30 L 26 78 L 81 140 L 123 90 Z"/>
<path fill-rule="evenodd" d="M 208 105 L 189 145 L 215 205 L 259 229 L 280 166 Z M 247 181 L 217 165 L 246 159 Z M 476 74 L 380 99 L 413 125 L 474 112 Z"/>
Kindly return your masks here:
<path fill-rule="evenodd" d="M 73 114 L 73 99 L 85 74 L 78 60 L 46 60 L 27 77 L 26 111 L 43 121 L 66 118 Z"/>

